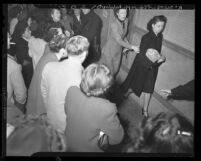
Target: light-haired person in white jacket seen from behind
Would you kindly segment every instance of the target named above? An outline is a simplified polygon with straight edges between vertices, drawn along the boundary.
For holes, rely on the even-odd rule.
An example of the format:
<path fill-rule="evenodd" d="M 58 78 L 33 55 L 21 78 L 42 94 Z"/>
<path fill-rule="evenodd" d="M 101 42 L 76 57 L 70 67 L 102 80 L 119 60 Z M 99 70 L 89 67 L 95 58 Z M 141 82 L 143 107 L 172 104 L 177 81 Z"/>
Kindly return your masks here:
<path fill-rule="evenodd" d="M 87 57 L 88 47 L 85 37 L 78 35 L 70 38 L 66 44 L 68 59 L 50 62 L 42 72 L 41 92 L 47 117 L 54 128 L 62 133 L 66 128 L 65 96 L 70 86 L 80 85 L 82 62 Z"/>

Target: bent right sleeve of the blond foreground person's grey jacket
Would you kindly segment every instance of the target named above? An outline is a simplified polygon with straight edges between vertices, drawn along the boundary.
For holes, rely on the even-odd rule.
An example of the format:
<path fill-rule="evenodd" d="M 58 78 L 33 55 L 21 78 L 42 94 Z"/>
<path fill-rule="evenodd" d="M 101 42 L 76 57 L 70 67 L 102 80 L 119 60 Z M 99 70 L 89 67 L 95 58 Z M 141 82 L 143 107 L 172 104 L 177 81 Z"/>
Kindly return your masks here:
<path fill-rule="evenodd" d="M 117 109 L 113 106 L 112 110 L 109 107 L 110 111 L 102 119 L 102 128 L 101 130 L 109 136 L 109 144 L 119 144 L 124 136 L 123 127 L 120 124 L 119 118 L 117 116 Z"/>

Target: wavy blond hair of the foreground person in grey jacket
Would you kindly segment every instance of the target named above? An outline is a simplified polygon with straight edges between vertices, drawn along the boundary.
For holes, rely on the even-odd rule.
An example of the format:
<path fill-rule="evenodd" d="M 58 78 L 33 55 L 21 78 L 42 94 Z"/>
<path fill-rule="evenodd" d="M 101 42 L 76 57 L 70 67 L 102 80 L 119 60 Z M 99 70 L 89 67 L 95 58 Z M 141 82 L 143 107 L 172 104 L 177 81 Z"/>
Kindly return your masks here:
<path fill-rule="evenodd" d="M 109 68 L 93 63 L 84 70 L 80 87 L 87 96 L 100 97 L 106 94 L 112 84 L 113 76 Z"/>

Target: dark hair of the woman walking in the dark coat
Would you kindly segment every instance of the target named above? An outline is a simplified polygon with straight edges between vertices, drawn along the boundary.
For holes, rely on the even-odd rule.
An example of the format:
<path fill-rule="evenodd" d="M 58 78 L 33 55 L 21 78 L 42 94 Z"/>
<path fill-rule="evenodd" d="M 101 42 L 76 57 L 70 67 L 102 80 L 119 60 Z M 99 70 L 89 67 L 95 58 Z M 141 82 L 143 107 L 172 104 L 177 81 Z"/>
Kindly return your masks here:
<path fill-rule="evenodd" d="M 147 23 L 147 30 L 152 31 L 152 24 L 156 24 L 157 22 L 164 22 L 163 30 L 165 29 L 167 18 L 164 15 L 154 16 L 148 23 Z M 161 31 L 161 33 L 163 32 Z"/>

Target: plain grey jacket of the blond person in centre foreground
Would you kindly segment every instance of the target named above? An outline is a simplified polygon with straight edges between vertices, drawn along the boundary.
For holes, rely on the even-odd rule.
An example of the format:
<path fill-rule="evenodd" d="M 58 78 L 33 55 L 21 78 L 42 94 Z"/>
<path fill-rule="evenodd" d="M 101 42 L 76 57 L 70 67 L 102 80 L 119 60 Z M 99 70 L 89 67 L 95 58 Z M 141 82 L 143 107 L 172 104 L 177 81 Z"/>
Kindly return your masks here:
<path fill-rule="evenodd" d="M 115 104 L 98 97 L 87 97 L 79 88 L 69 88 L 65 100 L 69 151 L 102 152 L 97 146 L 100 130 L 109 136 L 111 145 L 121 142 L 123 128 Z"/>

